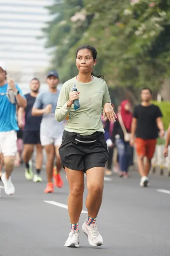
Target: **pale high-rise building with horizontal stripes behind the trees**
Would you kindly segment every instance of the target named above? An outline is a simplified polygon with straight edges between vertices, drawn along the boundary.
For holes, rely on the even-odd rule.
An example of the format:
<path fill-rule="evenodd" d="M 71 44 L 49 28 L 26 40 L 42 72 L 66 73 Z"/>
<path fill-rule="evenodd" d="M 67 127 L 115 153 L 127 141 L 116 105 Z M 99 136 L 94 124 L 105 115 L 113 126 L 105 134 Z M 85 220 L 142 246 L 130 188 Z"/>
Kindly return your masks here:
<path fill-rule="evenodd" d="M 53 0 L 0 0 L 0 61 L 19 84 L 28 84 L 33 76 L 45 80 L 50 51 L 45 49 L 41 28 L 51 19 L 44 7 Z"/>

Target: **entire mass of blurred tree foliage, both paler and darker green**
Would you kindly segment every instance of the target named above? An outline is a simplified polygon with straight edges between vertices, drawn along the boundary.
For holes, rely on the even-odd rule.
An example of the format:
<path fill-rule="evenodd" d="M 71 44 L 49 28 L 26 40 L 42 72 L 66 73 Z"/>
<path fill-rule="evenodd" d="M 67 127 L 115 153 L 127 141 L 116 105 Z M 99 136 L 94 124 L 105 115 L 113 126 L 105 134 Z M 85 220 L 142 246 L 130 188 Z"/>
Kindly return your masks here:
<path fill-rule="evenodd" d="M 77 73 L 75 51 L 82 44 L 96 47 L 94 73 L 111 87 L 158 90 L 170 75 L 168 0 L 63 0 L 49 9 L 58 15 L 45 30 L 47 47 L 57 46 L 53 64 L 62 81 Z"/>

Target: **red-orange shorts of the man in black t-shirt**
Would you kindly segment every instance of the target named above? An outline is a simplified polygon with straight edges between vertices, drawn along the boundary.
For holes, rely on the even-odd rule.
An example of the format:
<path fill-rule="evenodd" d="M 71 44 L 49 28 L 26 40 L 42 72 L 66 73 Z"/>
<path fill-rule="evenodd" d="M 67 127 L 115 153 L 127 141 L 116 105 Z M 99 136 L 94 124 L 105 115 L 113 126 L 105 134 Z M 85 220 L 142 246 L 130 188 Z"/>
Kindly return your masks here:
<path fill-rule="evenodd" d="M 136 138 L 136 153 L 139 157 L 147 157 L 152 159 L 155 153 L 156 139 L 154 140 L 143 140 L 141 138 Z"/>

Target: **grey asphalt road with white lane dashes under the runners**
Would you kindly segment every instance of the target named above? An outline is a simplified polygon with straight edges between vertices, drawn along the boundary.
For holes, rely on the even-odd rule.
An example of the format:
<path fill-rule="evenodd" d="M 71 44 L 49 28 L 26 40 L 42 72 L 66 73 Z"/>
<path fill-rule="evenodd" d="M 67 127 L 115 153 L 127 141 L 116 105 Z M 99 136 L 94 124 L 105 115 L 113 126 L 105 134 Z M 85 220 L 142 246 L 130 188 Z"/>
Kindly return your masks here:
<path fill-rule="evenodd" d="M 136 172 L 127 180 L 111 176 L 97 218 L 103 246 L 91 247 L 80 230 L 80 247 L 65 248 L 70 225 L 62 208 L 68 197 L 64 172 L 62 176 L 64 187 L 46 195 L 44 170 L 44 181 L 33 183 L 25 180 L 22 168 L 15 169 L 16 193 L 7 196 L 1 188 L 0 256 L 170 256 L 170 178 L 152 176 L 150 188 L 143 189 Z M 86 217 L 81 214 L 80 229 Z"/>

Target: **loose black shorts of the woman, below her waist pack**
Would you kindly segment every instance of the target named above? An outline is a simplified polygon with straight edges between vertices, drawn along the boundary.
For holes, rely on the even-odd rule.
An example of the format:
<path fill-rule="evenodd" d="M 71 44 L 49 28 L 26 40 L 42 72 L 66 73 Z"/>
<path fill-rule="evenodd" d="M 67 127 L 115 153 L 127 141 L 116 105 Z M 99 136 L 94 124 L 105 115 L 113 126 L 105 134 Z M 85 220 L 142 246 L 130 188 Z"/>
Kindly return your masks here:
<path fill-rule="evenodd" d="M 59 155 L 63 166 L 84 172 L 93 167 L 105 167 L 108 160 L 108 148 L 102 132 L 95 145 L 76 145 L 70 139 L 71 134 L 75 133 L 64 130 L 62 135 Z"/>

